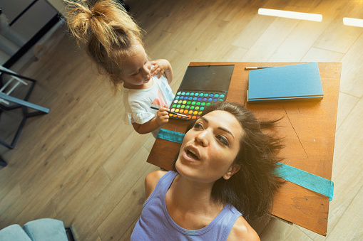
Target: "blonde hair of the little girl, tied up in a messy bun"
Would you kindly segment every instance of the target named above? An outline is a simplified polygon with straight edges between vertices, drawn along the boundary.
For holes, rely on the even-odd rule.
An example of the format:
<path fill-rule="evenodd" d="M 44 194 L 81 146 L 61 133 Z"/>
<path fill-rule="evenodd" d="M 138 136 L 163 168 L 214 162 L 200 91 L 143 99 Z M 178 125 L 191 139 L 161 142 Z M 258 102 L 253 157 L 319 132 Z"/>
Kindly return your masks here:
<path fill-rule="evenodd" d="M 101 73 L 110 77 L 116 89 L 122 83 L 122 63 L 134 53 L 135 44 L 143 45 L 141 28 L 114 0 L 65 0 L 68 4 L 68 27 L 78 43 L 86 43 L 87 53 Z"/>

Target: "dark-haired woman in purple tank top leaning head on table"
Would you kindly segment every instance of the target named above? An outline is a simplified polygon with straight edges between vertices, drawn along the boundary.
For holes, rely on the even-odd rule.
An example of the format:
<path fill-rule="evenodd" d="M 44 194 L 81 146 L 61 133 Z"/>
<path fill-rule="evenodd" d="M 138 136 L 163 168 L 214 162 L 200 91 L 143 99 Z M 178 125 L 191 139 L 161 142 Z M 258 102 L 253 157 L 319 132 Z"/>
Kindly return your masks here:
<path fill-rule="evenodd" d="M 145 178 L 147 200 L 131 240 L 259 240 L 246 220 L 272 207 L 282 147 L 260 126 L 235 102 L 205 109 L 187 129 L 177 172 Z"/>

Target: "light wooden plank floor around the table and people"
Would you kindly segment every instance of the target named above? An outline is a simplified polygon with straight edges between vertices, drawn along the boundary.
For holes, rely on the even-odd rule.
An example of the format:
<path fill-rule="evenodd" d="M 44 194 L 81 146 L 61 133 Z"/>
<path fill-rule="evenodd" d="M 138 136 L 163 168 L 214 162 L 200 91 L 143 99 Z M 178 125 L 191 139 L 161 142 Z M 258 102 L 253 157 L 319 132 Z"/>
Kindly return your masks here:
<path fill-rule="evenodd" d="M 272 219 L 262 240 L 363 240 L 363 1 L 128 1 L 152 59 L 173 65 L 175 91 L 191 61 L 340 61 L 327 237 Z M 320 23 L 258 16 L 260 7 L 322 14 Z M 59 26 L 14 70 L 39 80 L 30 101 L 51 112 L 27 120 L 0 168 L 0 229 L 37 218 L 72 225 L 78 240 L 128 240 L 144 201 L 153 136 L 120 124 L 123 104 Z M 43 47 L 43 48 L 40 48 Z M 16 114 L 2 115 L 8 120 Z M 11 126 L 7 121 L 7 124 Z M 1 125 L 2 134 L 9 134 Z"/>

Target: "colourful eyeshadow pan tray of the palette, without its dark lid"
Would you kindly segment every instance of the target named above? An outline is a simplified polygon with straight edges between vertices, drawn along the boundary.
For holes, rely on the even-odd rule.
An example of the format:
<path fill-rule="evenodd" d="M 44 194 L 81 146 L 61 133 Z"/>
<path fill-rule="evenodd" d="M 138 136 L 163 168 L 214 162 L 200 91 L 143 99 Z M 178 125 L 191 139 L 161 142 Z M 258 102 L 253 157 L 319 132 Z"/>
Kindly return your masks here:
<path fill-rule="evenodd" d="M 170 111 L 184 114 L 187 117 L 181 117 L 177 114 L 169 114 L 175 119 L 198 119 L 203 109 L 215 103 L 224 101 L 227 92 L 208 92 L 196 90 L 178 90 L 171 105 Z"/>

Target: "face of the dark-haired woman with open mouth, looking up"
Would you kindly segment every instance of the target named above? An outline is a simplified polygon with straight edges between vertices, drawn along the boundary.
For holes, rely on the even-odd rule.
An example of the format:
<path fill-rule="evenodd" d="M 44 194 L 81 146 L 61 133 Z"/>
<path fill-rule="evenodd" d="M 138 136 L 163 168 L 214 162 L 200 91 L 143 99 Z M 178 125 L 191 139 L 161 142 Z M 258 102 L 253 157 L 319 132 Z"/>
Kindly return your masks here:
<path fill-rule="evenodd" d="M 184 136 L 175 168 L 181 176 L 203 183 L 230 178 L 240 149 L 242 127 L 234 115 L 222 110 L 205 114 Z"/>

